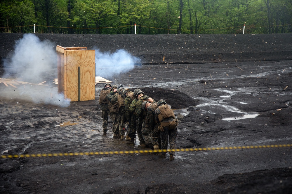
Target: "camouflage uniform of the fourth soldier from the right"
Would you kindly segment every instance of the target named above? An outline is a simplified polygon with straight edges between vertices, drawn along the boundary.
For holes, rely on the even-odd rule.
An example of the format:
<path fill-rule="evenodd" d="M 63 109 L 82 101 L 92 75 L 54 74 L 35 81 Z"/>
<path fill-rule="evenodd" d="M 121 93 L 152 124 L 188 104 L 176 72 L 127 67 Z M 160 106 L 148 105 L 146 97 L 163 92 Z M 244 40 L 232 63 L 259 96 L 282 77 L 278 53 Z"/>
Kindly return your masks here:
<path fill-rule="evenodd" d="M 131 113 L 130 109 L 129 109 L 130 105 L 131 105 L 131 102 L 134 99 L 132 99 L 130 97 L 130 95 L 133 95 L 133 92 L 129 91 L 127 93 L 127 96 L 126 96 L 125 101 L 124 101 L 125 110 L 126 110 L 126 120 L 129 122 L 129 128 L 127 130 L 127 136 L 129 136 L 130 138 L 135 138 L 136 137 L 136 129 L 134 129 L 134 128 L 136 128 L 136 119 L 133 118 L 135 115 L 133 115 Z M 132 136 L 130 136 L 130 133 L 133 133 L 133 131 L 135 131 L 134 136 L 132 134 L 131 134 Z"/>

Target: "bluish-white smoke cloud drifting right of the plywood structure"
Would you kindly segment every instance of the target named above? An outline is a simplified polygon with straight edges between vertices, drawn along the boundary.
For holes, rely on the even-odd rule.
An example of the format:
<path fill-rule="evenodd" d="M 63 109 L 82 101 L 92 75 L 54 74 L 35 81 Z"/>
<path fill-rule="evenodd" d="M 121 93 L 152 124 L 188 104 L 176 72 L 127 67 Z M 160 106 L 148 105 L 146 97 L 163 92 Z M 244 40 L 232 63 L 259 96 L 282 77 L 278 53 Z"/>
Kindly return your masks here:
<path fill-rule="evenodd" d="M 128 72 L 140 64 L 140 59 L 132 56 L 127 51 L 120 49 L 115 53 L 102 53 L 95 49 L 95 75 L 101 77 L 110 77 L 120 73 Z"/>

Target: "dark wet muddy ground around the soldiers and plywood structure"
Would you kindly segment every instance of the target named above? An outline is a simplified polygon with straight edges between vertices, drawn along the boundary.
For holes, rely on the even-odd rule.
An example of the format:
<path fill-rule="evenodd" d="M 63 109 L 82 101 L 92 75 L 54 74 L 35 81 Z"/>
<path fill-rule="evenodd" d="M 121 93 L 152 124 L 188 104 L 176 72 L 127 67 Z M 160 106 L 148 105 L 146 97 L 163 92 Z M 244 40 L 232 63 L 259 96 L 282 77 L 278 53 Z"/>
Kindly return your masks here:
<path fill-rule="evenodd" d="M 0 34 L 2 59 L 22 36 Z M 37 36 L 54 47 L 125 49 L 140 58 L 142 65 L 106 79 L 171 104 L 181 121 L 178 149 L 292 143 L 292 34 Z M 20 74 L 1 62 L 0 77 L 7 73 Z M 43 81 L 57 90 L 56 77 L 53 68 Z M 95 100 L 60 107 L 1 84 L 0 154 L 140 150 L 102 136 L 102 87 Z M 291 158 L 291 147 L 183 151 L 174 161 L 145 153 L 2 158 L 0 192 L 291 193 Z"/>

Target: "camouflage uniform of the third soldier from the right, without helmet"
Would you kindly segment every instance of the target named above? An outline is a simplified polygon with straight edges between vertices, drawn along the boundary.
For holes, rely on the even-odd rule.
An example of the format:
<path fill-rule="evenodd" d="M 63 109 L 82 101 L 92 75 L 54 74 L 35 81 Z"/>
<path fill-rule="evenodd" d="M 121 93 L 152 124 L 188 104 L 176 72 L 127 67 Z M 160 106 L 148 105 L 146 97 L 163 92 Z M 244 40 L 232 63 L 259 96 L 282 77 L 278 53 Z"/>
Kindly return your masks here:
<path fill-rule="evenodd" d="M 145 141 L 145 144 L 148 146 L 152 146 L 152 141 L 150 137 L 150 128 L 147 124 L 145 124 L 145 116 L 146 112 L 142 110 L 142 103 L 146 100 L 148 100 L 150 97 L 147 95 L 143 95 L 138 99 L 137 104 L 136 104 L 136 119 L 138 122 L 136 122 L 136 128 L 138 132 L 138 137 L 139 135 L 142 136 L 143 140 Z M 140 137 L 139 137 L 140 141 Z M 141 144 L 141 141 L 140 141 Z"/>

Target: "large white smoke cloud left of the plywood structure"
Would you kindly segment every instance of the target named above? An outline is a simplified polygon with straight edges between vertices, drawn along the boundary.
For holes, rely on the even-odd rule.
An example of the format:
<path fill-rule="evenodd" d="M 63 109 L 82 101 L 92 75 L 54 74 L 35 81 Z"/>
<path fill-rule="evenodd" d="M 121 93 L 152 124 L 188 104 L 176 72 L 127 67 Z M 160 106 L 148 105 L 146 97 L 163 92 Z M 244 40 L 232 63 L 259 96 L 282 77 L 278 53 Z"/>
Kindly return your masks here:
<path fill-rule="evenodd" d="M 4 62 L 6 74 L 4 78 L 11 78 L 15 74 L 24 82 L 40 83 L 47 74 L 57 76 L 57 55 L 54 44 L 48 40 L 40 41 L 34 34 L 24 34 L 23 38 L 15 41 L 11 58 Z M 54 73 L 51 73 L 54 72 Z M 53 80 L 52 80 L 53 82 Z M 51 84 L 46 82 L 45 84 Z M 29 100 L 34 103 L 52 104 L 61 107 L 70 105 L 70 100 L 58 93 L 58 88 L 53 86 L 17 85 L 18 88 L 9 90 L 5 88 L 2 97 Z"/>

